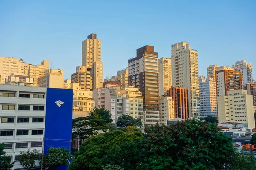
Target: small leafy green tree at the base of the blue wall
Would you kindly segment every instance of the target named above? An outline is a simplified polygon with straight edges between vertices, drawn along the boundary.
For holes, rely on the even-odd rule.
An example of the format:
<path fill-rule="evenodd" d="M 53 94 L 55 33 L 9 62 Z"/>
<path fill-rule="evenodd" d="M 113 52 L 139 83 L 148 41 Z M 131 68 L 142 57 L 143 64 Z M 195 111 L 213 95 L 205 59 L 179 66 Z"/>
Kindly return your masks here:
<path fill-rule="evenodd" d="M 71 159 L 70 151 L 64 147 L 50 147 L 48 153 L 43 157 L 43 167 L 49 167 L 54 170 L 60 166 L 66 166 Z"/>

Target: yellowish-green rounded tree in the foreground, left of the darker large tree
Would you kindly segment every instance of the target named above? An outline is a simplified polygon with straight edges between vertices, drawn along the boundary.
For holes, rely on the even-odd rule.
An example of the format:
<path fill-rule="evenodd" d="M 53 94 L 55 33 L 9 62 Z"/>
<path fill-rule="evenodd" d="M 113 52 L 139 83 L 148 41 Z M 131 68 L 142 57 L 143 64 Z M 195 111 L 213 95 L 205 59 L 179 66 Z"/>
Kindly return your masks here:
<path fill-rule="evenodd" d="M 143 139 L 140 131 L 114 130 L 85 140 L 76 153 L 68 170 L 102 170 L 107 164 L 118 165 L 125 170 L 136 169 L 140 157 L 137 144 Z"/>

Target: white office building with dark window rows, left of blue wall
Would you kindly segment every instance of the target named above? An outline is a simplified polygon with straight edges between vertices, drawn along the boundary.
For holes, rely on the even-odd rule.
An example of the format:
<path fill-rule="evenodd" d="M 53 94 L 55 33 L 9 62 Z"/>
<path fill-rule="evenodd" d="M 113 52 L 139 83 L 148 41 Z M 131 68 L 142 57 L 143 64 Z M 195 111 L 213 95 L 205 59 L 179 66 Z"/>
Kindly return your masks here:
<path fill-rule="evenodd" d="M 19 164 L 20 151 L 31 148 L 42 153 L 46 91 L 47 88 L 0 85 L 0 142 L 15 161 L 12 170 L 23 168 Z"/>

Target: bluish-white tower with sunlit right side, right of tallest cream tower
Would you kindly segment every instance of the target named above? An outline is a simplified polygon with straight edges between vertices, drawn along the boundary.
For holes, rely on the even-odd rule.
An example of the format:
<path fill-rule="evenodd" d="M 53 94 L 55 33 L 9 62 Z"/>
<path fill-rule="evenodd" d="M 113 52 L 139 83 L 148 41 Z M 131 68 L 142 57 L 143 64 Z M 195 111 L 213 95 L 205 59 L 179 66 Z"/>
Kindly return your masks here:
<path fill-rule="evenodd" d="M 218 117 L 216 82 L 210 77 L 199 77 L 201 117 Z"/>

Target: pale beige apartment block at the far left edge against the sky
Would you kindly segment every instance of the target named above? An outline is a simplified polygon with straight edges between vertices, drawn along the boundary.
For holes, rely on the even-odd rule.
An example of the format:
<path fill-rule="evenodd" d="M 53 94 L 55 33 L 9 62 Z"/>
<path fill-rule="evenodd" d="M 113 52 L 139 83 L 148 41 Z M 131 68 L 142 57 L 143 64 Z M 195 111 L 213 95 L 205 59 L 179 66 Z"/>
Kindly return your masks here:
<path fill-rule="evenodd" d="M 0 57 L 0 84 L 12 73 L 24 73 L 25 63 L 17 58 Z"/>

